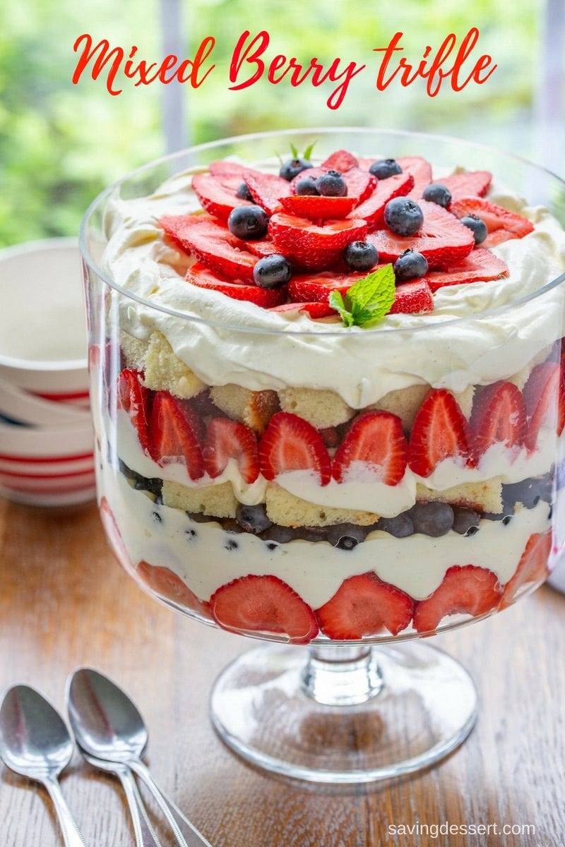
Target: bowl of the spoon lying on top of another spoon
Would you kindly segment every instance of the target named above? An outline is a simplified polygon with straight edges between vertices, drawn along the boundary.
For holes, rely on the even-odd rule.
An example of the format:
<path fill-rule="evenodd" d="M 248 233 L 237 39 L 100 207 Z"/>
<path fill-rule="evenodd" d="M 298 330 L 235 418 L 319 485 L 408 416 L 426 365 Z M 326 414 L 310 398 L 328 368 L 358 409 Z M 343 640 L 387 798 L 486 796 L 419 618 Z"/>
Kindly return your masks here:
<path fill-rule="evenodd" d="M 69 680 L 69 721 L 82 750 L 97 759 L 131 761 L 147 746 L 147 728 L 130 698 L 111 679 L 80 667 Z"/>

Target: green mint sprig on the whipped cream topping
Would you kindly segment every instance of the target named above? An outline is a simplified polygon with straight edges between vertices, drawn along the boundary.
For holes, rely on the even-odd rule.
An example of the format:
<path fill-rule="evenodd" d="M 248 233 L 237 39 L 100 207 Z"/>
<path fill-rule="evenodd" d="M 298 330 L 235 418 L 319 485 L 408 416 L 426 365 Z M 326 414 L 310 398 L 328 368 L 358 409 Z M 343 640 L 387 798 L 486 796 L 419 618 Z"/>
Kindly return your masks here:
<path fill-rule="evenodd" d="M 394 300 L 395 274 L 388 264 L 357 280 L 345 297 L 332 291 L 329 303 L 346 326 L 374 326 L 391 311 Z"/>

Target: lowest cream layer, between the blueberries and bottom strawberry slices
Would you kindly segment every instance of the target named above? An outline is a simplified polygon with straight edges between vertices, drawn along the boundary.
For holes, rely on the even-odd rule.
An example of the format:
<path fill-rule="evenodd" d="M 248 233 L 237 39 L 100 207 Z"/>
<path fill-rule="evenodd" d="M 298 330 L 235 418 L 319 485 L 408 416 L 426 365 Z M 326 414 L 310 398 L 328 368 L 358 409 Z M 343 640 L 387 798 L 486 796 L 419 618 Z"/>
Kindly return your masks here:
<path fill-rule="evenodd" d="M 295 540 L 268 545 L 255 535 L 228 536 L 219 523 L 196 523 L 185 512 L 156 505 L 107 464 L 102 488 L 114 513 L 130 561 L 169 567 L 201 599 L 232 579 L 273 574 L 289 584 L 313 609 L 323 606 L 344 579 L 374 571 L 380 579 L 424 600 L 452 565 L 473 564 L 496 573 L 506 584 L 533 533 L 550 527 L 549 506 L 522 509 L 510 523 L 481 521 L 469 537 L 449 532 L 441 538 L 415 534 L 396 539 L 375 530 L 363 544 L 344 551 L 329 543 Z M 158 512 L 160 521 L 152 516 Z M 226 545 L 228 537 L 236 546 Z"/>

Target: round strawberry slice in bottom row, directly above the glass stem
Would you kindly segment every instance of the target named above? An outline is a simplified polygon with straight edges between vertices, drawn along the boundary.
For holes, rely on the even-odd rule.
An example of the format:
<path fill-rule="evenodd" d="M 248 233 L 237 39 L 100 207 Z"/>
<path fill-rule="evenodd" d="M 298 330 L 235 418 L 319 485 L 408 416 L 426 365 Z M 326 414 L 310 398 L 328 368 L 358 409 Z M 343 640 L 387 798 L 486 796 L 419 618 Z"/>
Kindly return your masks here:
<path fill-rule="evenodd" d="M 397 635 L 412 620 L 411 597 L 369 571 L 345 579 L 335 595 L 316 611 L 320 629 L 330 639 L 358 640 L 387 629 Z"/>

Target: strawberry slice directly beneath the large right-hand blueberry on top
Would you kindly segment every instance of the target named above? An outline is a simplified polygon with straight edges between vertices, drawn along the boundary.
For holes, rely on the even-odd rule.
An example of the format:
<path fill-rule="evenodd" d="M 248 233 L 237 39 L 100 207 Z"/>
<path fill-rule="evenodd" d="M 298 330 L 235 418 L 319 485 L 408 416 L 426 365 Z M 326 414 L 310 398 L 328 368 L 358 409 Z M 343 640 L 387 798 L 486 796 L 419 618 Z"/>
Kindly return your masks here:
<path fill-rule="evenodd" d="M 368 235 L 379 251 L 380 262 L 396 262 L 405 250 L 415 250 L 428 259 L 430 268 L 450 268 L 461 262 L 474 248 L 474 235 L 437 203 L 418 200 L 424 213 L 424 224 L 416 235 L 396 235 L 391 230 L 378 230 Z"/>

